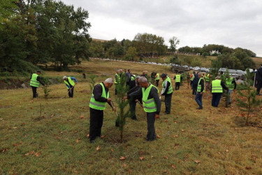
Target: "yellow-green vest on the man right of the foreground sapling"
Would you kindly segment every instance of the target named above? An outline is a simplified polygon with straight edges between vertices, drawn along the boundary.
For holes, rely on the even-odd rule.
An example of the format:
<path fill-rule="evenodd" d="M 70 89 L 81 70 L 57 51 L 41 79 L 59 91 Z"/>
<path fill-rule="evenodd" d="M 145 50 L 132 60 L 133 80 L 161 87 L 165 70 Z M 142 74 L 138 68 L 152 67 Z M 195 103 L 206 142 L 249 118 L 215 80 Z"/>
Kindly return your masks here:
<path fill-rule="evenodd" d="M 151 85 L 149 87 L 147 87 L 147 89 L 145 90 L 145 87 L 142 87 L 142 94 L 143 94 L 143 105 L 144 105 L 144 111 L 147 113 L 153 113 L 157 111 L 157 104 L 156 102 L 154 102 L 154 99 L 147 99 L 149 94 L 150 94 L 150 90 L 152 87 L 155 87 L 154 85 Z M 156 87 L 157 88 L 157 87 Z M 158 91 L 158 89 L 157 89 Z"/>

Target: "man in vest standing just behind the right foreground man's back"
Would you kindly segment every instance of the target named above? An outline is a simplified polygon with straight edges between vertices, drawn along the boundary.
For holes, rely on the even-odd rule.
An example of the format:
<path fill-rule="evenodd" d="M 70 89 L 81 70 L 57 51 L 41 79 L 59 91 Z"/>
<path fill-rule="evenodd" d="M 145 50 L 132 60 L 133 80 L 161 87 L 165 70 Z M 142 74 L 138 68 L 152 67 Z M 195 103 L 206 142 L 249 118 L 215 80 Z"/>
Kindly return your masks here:
<path fill-rule="evenodd" d="M 166 106 L 165 114 L 170 114 L 172 94 L 173 94 L 172 83 L 170 78 L 166 75 L 166 73 L 163 73 L 160 77 L 163 80 L 162 83 L 163 89 L 161 92 L 161 96 L 165 96 L 165 106 Z"/>

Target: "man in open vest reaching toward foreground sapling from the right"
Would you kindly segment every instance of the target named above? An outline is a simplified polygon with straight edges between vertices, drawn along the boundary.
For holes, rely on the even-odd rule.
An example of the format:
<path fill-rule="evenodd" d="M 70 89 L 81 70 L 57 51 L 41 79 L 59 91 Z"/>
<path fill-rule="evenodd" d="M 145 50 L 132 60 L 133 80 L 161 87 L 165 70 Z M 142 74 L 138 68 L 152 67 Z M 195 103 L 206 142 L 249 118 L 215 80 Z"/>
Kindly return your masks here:
<path fill-rule="evenodd" d="M 161 101 L 159 99 L 159 92 L 157 87 L 147 82 L 147 78 L 140 77 L 138 79 L 140 88 L 129 94 L 125 99 L 131 99 L 132 97 L 142 97 L 144 111 L 147 113 L 147 141 L 153 141 L 157 139 L 156 132 L 154 130 L 154 121 L 159 118 L 161 111 Z"/>

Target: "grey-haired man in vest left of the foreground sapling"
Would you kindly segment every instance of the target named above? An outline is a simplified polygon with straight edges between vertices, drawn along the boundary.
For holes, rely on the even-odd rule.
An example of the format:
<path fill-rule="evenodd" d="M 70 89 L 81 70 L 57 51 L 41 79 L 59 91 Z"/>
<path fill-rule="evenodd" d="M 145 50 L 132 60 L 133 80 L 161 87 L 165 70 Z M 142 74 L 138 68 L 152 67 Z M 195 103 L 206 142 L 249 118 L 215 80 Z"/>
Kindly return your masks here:
<path fill-rule="evenodd" d="M 107 78 L 103 83 L 99 83 L 94 86 L 92 97 L 90 99 L 90 127 L 89 127 L 89 139 L 90 143 L 94 144 L 96 137 L 101 137 L 101 128 L 103 126 L 103 111 L 105 110 L 106 103 L 110 106 L 109 88 L 114 84 L 112 78 Z M 116 111 L 114 106 L 112 111 Z"/>

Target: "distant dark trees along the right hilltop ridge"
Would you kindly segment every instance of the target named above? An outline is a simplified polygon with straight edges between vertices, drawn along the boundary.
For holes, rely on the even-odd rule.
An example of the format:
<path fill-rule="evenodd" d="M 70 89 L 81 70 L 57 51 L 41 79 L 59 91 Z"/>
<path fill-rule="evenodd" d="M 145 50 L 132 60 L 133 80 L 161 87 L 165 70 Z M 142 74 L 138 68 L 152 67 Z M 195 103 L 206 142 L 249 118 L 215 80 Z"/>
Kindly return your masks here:
<path fill-rule="evenodd" d="M 252 52 L 252 50 L 247 50 L 244 48 L 228 48 L 224 45 L 217 45 L 217 44 L 208 44 L 208 45 L 203 45 L 202 48 L 200 47 L 189 47 L 189 46 L 184 46 L 182 48 L 179 48 L 178 51 L 179 52 L 187 52 L 187 53 L 193 53 L 193 54 L 200 54 L 200 55 L 210 55 L 210 52 L 212 52 L 212 50 L 216 50 L 221 54 L 231 54 L 233 52 L 236 51 L 242 51 L 242 52 L 246 52 L 247 55 L 249 55 L 249 57 L 256 57 L 256 53 Z M 217 53 L 214 53 L 211 56 L 217 56 Z"/>

